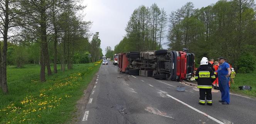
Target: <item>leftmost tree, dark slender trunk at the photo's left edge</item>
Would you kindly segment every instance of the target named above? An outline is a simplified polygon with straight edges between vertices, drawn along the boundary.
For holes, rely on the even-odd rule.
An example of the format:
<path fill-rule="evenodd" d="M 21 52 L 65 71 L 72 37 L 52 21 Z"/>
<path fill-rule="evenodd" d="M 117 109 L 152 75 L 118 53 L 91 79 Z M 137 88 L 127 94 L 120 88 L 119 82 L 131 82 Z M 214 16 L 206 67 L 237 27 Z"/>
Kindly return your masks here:
<path fill-rule="evenodd" d="M 2 84 L 4 93 L 8 93 L 6 76 L 7 41 L 10 38 L 18 36 L 15 32 L 12 32 L 11 35 L 9 35 L 8 32 L 10 29 L 19 26 L 17 21 L 19 21 L 21 16 L 27 13 L 27 11 L 22 11 L 20 8 L 18 0 L 1 0 L 0 2 L 0 32 L 2 34 L 1 38 L 3 38 L 3 55 L 0 54 L 0 84 Z"/>

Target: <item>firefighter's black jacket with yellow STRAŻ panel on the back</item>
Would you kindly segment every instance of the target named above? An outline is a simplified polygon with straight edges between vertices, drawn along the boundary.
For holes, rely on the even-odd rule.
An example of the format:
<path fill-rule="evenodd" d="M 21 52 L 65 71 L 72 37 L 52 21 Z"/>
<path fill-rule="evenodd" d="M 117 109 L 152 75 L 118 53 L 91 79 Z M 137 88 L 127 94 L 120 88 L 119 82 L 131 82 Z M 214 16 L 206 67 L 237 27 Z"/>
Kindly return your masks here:
<path fill-rule="evenodd" d="M 195 72 L 195 80 L 197 81 L 197 88 L 211 89 L 215 75 L 208 65 L 200 65 Z"/>

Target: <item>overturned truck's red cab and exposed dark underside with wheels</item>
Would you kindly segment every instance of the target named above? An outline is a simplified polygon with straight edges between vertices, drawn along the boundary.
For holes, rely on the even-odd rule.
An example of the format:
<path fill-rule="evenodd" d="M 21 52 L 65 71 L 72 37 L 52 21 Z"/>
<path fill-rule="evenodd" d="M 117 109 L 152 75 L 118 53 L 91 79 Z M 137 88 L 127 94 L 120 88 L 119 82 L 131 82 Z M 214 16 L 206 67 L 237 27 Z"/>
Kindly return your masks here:
<path fill-rule="evenodd" d="M 194 74 L 195 55 L 183 51 L 158 51 L 135 52 L 125 54 L 128 65 L 125 73 L 154 77 L 162 80 L 186 80 Z"/>

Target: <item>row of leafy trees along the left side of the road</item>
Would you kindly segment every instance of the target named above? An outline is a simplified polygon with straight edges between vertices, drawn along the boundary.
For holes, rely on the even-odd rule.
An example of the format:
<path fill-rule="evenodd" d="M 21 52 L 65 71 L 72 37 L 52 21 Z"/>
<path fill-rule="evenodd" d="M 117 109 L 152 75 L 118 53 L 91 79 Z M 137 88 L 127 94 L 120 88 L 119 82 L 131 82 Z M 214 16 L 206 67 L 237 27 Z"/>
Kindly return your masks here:
<path fill-rule="evenodd" d="M 92 22 L 79 14 L 85 6 L 80 0 L 1 0 L 0 2 L 0 87 L 8 93 L 7 64 L 22 67 L 40 64 L 40 81 L 45 71 L 57 73 L 72 69 L 74 63 L 86 63 L 102 55 L 99 33 L 89 31 Z M 93 49 L 92 49 L 93 48 Z"/>

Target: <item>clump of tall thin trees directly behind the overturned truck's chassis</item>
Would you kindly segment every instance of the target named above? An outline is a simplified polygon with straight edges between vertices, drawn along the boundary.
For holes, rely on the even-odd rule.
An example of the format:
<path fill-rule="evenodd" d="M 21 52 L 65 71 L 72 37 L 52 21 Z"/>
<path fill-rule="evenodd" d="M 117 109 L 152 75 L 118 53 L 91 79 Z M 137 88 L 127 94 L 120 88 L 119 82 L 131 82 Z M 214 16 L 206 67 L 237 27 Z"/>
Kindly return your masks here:
<path fill-rule="evenodd" d="M 162 48 L 165 37 L 167 15 L 156 3 L 151 7 L 136 8 L 125 28 L 126 36 L 115 46 L 115 53 L 148 51 Z"/>

